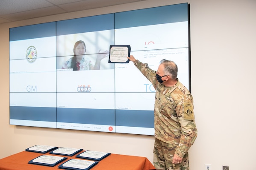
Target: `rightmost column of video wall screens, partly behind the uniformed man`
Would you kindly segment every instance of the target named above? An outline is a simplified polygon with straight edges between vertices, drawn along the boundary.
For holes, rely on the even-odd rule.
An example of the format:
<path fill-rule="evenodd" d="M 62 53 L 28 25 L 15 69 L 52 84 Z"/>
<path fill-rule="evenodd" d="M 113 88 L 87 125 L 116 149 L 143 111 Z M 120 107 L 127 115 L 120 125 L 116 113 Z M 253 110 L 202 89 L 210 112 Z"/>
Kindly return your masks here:
<path fill-rule="evenodd" d="M 162 59 L 173 60 L 189 87 L 187 4 L 173 7 L 115 13 L 115 43 L 130 45 L 131 55 L 155 71 Z M 115 89 L 116 132 L 153 135 L 155 89 L 132 62 L 115 64 Z"/>

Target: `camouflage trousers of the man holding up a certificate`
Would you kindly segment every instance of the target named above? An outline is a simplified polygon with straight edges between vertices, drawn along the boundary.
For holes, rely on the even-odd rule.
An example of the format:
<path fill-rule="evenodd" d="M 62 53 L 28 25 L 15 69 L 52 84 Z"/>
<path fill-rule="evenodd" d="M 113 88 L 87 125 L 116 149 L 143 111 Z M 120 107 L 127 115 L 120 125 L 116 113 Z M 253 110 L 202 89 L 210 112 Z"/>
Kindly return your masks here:
<path fill-rule="evenodd" d="M 177 146 L 155 139 L 154 166 L 156 170 L 189 170 L 188 153 L 180 164 L 173 164 L 172 160 Z"/>

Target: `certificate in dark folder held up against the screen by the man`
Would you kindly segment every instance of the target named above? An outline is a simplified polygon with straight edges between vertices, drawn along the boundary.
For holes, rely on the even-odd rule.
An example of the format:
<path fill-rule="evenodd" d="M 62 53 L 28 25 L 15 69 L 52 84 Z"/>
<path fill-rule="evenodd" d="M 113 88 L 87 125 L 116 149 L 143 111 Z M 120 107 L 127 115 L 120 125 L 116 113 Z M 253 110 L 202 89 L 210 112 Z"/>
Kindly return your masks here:
<path fill-rule="evenodd" d="M 130 57 L 130 45 L 110 45 L 109 63 L 128 63 Z"/>

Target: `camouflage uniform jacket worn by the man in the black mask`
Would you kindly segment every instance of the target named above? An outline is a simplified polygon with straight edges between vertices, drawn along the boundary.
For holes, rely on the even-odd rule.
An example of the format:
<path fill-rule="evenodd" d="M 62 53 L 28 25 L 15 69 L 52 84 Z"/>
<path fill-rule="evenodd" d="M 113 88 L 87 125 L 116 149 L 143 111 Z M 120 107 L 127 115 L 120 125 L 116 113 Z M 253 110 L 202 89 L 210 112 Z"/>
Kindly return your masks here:
<path fill-rule="evenodd" d="M 173 144 L 175 153 L 182 157 L 197 137 L 194 121 L 193 97 L 177 79 L 173 87 L 165 87 L 156 79 L 156 71 L 135 60 L 134 65 L 152 83 L 156 90 L 154 108 L 155 137 Z"/>

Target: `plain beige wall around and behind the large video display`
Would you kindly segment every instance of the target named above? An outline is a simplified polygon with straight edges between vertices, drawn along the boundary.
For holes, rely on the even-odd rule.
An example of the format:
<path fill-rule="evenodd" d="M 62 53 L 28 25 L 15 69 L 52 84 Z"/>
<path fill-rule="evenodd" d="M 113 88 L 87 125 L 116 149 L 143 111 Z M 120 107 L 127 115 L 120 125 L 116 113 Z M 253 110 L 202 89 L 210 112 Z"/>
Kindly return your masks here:
<path fill-rule="evenodd" d="M 9 28 L 138 8 L 190 3 L 191 89 L 198 137 L 191 170 L 253 170 L 256 153 L 256 1 L 146 0 L 0 25 L 0 158 L 35 144 L 147 157 L 153 136 L 9 125 Z"/>

